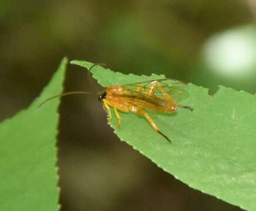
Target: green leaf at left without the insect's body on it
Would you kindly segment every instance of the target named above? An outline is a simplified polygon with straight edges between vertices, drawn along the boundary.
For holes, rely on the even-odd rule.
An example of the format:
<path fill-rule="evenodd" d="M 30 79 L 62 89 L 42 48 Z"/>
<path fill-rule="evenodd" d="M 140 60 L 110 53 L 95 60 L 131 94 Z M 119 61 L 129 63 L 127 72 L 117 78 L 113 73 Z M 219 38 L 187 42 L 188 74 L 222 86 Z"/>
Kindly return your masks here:
<path fill-rule="evenodd" d="M 0 210 L 58 210 L 56 135 L 59 100 L 67 60 L 26 110 L 0 124 Z"/>

